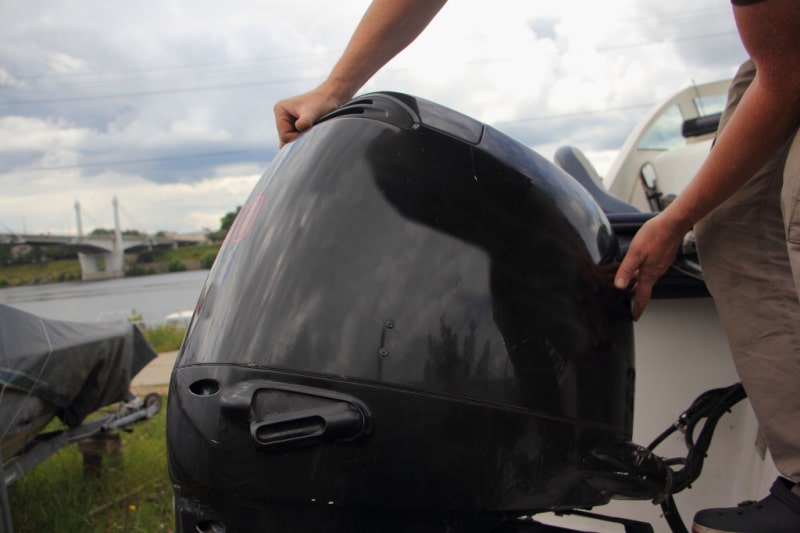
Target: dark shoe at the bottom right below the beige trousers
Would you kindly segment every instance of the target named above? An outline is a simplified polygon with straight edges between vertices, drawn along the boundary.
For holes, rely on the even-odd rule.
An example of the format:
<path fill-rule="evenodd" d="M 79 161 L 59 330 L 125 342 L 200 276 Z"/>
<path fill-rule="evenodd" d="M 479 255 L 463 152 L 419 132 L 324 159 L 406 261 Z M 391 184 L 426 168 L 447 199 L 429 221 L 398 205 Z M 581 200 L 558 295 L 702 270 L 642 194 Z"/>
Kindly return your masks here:
<path fill-rule="evenodd" d="M 794 482 L 778 478 L 763 500 L 740 507 L 706 509 L 694 516 L 693 533 L 798 533 L 800 496 Z"/>

